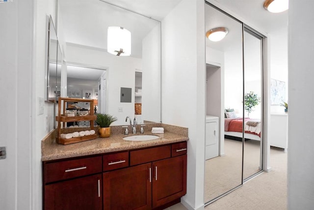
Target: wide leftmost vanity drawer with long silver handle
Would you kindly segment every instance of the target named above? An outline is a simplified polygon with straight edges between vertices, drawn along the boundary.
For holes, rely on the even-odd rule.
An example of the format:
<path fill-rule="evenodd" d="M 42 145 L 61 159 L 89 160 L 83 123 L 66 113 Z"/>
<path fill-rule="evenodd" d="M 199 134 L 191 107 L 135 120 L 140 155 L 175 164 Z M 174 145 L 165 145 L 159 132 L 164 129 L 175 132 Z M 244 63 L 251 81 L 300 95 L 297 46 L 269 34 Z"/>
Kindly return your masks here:
<path fill-rule="evenodd" d="M 102 169 L 102 156 L 45 163 L 44 182 L 49 183 L 52 181 L 101 173 Z"/>

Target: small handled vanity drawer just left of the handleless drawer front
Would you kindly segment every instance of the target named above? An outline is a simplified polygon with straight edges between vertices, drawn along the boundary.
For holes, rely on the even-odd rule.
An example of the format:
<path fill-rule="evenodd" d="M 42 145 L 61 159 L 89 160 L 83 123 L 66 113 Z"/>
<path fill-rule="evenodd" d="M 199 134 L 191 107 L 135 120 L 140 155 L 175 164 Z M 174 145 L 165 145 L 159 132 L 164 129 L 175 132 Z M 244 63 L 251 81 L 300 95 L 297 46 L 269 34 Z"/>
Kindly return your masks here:
<path fill-rule="evenodd" d="M 104 171 L 110 171 L 129 166 L 129 152 L 105 154 L 103 156 Z"/>

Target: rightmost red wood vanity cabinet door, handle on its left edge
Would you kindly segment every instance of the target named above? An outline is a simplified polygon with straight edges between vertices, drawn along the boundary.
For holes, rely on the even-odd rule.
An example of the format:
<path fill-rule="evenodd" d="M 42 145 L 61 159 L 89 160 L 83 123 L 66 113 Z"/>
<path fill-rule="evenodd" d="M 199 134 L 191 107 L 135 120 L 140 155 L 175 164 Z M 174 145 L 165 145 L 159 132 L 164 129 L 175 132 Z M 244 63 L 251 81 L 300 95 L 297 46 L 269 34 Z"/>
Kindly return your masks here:
<path fill-rule="evenodd" d="M 186 154 L 153 162 L 153 208 L 186 194 Z"/>

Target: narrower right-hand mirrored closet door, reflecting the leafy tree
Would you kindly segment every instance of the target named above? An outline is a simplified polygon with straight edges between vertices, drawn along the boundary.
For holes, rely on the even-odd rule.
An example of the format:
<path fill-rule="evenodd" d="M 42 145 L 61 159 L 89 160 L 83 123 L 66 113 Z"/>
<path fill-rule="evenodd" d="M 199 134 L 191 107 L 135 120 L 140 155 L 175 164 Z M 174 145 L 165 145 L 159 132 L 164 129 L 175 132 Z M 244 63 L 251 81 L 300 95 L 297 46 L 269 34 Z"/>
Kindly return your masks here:
<path fill-rule="evenodd" d="M 243 179 L 262 170 L 262 36 L 244 27 Z"/>

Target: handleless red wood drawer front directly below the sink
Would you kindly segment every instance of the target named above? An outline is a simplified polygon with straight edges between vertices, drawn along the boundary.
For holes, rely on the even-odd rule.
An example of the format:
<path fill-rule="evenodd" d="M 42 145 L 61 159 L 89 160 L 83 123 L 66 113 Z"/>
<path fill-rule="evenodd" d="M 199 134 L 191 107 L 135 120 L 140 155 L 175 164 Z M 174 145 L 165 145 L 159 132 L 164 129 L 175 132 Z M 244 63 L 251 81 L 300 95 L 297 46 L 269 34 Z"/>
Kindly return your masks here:
<path fill-rule="evenodd" d="M 171 146 L 130 151 L 130 165 L 153 162 L 171 156 Z"/>

